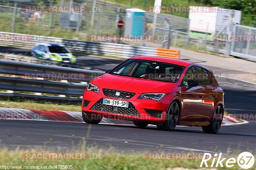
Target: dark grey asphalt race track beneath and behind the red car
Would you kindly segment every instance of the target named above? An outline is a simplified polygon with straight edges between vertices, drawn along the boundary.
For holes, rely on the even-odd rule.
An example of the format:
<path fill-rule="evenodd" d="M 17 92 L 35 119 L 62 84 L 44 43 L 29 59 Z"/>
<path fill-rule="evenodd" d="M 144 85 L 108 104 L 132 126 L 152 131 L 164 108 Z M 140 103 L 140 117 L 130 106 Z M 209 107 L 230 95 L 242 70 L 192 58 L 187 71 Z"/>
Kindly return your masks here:
<path fill-rule="evenodd" d="M 0 51 L 27 51 L 22 48 L 0 47 Z M 76 55 L 78 61 L 93 67 L 112 68 L 121 60 L 106 59 L 96 56 Z M 181 59 L 190 60 L 181 56 Z M 89 63 L 91 65 L 89 65 Z M 204 61 L 196 61 L 204 64 Z M 234 73 L 227 70 L 209 67 L 215 74 Z M 225 110 L 228 113 L 256 113 L 256 85 L 230 78 L 218 80 L 224 90 Z M 217 134 L 206 134 L 201 127 L 178 126 L 172 132 L 160 131 L 148 126 L 144 129 L 125 125 L 89 125 L 72 122 L 18 121 L 0 122 L 1 145 L 15 149 L 20 147 L 44 146 L 62 149 L 79 147 L 81 140 L 87 146 L 105 148 L 113 147 L 112 151 L 121 152 L 223 152 L 228 148 L 232 151 L 249 151 L 256 153 L 256 121 L 246 124 L 222 126 Z M 88 132 L 90 129 L 90 132 Z"/>

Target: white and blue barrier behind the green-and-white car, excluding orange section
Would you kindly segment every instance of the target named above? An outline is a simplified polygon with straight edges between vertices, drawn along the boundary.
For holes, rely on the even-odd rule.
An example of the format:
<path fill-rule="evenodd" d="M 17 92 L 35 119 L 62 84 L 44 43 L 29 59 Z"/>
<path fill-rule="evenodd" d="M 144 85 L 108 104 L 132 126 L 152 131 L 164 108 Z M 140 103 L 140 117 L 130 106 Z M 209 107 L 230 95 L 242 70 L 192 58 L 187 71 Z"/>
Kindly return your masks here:
<path fill-rule="evenodd" d="M 81 40 L 69 40 L 56 37 L 46 37 L 38 35 L 28 35 L 19 33 L 7 33 L 0 32 L 0 36 L 20 36 L 20 41 L 2 41 L 1 44 L 8 46 L 22 46 L 32 48 L 36 43 L 57 43 L 63 44 L 71 51 L 84 52 L 87 54 L 100 54 L 100 55 L 110 55 L 123 58 L 130 58 L 137 55 L 151 55 L 157 56 L 157 49 L 152 47 L 142 47 L 142 46 L 131 46 L 126 44 L 118 43 L 108 43 L 108 42 L 92 42 L 92 41 L 81 41 Z M 23 37 L 23 38 L 22 38 Z M 6 40 L 6 39 L 5 39 Z M 10 39 L 11 40 L 11 39 Z"/>

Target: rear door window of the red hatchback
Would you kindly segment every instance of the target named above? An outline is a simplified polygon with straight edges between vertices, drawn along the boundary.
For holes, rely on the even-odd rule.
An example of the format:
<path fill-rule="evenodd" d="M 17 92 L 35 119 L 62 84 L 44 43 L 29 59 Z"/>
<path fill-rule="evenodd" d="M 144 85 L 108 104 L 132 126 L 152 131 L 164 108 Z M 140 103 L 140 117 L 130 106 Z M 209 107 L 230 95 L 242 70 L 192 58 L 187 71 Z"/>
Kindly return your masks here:
<path fill-rule="evenodd" d="M 212 84 L 212 73 L 201 68 L 196 67 L 197 70 L 197 78 L 199 81 L 199 85 L 211 85 Z"/>

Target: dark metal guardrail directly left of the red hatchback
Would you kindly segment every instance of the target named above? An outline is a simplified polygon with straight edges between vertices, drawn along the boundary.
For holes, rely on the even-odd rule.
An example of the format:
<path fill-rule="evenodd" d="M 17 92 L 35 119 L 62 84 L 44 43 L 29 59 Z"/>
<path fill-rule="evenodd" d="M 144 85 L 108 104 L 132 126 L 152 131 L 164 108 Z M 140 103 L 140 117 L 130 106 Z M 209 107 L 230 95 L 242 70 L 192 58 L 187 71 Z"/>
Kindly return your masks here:
<path fill-rule="evenodd" d="M 0 59 L 0 89 L 33 94 L 11 93 L 9 96 L 54 98 L 58 100 L 81 100 L 87 82 L 104 74 L 103 71 L 83 70 L 60 66 L 25 63 Z M 6 76 L 9 75 L 9 76 Z M 16 77 L 12 77 L 15 75 Z M 54 80 L 54 81 L 53 81 Z M 70 81 L 70 82 L 68 82 Z M 67 95 L 66 97 L 42 95 Z M 1 96 L 8 96 L 0 92 Z"/>

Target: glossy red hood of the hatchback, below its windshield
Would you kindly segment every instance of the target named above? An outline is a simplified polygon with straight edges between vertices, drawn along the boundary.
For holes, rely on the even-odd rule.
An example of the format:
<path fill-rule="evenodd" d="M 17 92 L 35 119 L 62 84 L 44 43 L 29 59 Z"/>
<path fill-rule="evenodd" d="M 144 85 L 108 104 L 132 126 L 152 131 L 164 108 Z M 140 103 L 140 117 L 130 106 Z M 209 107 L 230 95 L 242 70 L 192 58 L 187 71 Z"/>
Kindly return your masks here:
<path fill-rule="evenodd" d="M 91 81 L 100 88 L 116 89 L 135 93 L 152 93 L 176 86 L 176 83 L 104 74 Z"/>

